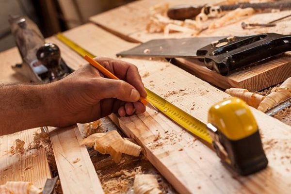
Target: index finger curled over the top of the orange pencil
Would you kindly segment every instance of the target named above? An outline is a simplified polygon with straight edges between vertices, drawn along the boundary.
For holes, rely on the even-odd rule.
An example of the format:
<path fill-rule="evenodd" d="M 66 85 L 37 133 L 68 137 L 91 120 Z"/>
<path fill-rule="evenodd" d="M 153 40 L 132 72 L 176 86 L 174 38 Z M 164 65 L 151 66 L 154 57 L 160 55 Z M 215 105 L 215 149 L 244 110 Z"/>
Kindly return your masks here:
<path fill-rule="evenodd" d="M 119 79 L 127 81 L 135 87 L 142 97 L 147 96 L 145 86 L 135 65 L 109 58 L 95 58 L 95 60 L 111 71 Z"/>

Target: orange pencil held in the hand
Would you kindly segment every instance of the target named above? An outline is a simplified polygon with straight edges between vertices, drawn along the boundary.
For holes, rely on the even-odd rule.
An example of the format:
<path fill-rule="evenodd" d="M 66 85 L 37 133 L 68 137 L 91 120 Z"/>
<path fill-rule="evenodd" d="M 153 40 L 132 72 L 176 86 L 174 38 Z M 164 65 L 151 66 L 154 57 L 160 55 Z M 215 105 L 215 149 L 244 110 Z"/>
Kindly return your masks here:
<path fill-rule="evenodd" d="M 89 62 L 89 64 L 96 67 L 101 73 L 103 73 L 107 78 L 113 79 L 113 80 L 120 80 L 117 78 L 113 73 L 111 73 L 108 69 L 106 69 L 104 66 L 100 65 L 97 61 L 95 61 L 93 58 L 89 57 L 88 55 L 84 56 L 85 60 Z M 142 102 L 145 106 L 157 110 L 150 102 L 147 101 L 146 98 L 140 97 L 140 102 Z"/>

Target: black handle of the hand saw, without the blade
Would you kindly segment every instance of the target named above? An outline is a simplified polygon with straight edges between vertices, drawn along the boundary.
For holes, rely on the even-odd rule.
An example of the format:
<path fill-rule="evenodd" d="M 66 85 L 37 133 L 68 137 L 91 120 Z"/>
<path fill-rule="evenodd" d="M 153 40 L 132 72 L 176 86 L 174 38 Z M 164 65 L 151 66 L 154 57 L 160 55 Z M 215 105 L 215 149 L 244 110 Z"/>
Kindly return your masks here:
<path fill-rule="evenodd" d="M 291 35 L 262 33 L 231 36 L 197 50 L 205 65 L 226 76 L 230 71 L 291 51 Z"/>

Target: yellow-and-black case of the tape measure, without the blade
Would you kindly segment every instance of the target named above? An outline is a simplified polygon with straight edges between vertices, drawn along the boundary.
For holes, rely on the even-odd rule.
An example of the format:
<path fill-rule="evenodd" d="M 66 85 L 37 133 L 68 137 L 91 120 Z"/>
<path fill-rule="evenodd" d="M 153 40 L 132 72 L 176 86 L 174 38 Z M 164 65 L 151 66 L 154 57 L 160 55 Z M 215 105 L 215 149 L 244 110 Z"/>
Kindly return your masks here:
<path fill-rule="evenodd" d="M 231 97 L 214 104 L 207 128 L 221 161 L 240 175 L 249 175 L 268 164 L 257 122 L 246 103 Z"/>

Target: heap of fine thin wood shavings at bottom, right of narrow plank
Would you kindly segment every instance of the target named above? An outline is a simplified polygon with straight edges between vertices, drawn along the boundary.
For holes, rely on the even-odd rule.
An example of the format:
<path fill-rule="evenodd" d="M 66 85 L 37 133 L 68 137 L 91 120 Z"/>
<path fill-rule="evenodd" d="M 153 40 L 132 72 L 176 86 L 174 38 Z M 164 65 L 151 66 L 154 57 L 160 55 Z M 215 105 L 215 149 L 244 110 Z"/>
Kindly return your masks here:
<path fill-rule="evenodd" d="M 111 176 L 101 179 L 105 194 L 120 194 L 128 192 L 132 188 L 135 175 L 143 174 L 142 167 L 135 167 L 131 172 L 120 170 Z M 106 180 L 110 178 L 109 180 Z"/>

